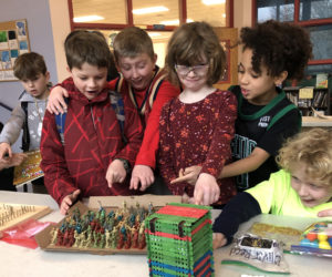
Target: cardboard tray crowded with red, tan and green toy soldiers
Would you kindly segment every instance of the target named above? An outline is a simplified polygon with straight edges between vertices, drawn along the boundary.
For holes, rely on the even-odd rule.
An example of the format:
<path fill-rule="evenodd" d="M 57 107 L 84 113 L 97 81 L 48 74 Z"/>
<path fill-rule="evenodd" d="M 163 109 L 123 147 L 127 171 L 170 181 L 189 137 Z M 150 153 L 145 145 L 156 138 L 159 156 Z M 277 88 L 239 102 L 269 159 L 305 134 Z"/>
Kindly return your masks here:
<path fill-rule="evenodd" d="M 101 196 L 77 202 L 55 227 L 35 236 L 44 250 L 146 254 L 145 218 L 180 196 Z M 98 206 L 96 207 L 96 203 Z"/>

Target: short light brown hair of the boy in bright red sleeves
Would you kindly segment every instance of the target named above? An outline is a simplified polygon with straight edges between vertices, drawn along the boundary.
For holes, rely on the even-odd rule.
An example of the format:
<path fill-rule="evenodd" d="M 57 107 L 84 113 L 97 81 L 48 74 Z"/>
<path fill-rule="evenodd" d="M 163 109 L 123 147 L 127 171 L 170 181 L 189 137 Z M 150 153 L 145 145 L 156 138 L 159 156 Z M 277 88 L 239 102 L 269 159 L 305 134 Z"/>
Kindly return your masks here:
<path fill-rule="evenodd" d="M 146 31 L 138 27 L 128 27 L 116 34 L 113 43 L 116 62 L 120 58 L 135 58 L 138 54 L 147 54 L 154 59 L 154 45 Z"/>

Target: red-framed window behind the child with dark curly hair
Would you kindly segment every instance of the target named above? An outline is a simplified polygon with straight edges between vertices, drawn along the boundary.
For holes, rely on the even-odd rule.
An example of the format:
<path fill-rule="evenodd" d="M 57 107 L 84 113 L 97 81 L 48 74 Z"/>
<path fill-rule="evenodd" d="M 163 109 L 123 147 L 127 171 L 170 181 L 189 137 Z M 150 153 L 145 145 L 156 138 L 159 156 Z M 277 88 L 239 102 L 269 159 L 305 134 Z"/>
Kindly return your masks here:
<path fill-rule="evenodd" d="M 274 19 L 307 28 L 313 44 L 307 75 L 332 74 L 332 0 L 257 0 L 253 13 L 255 22 Z"/>

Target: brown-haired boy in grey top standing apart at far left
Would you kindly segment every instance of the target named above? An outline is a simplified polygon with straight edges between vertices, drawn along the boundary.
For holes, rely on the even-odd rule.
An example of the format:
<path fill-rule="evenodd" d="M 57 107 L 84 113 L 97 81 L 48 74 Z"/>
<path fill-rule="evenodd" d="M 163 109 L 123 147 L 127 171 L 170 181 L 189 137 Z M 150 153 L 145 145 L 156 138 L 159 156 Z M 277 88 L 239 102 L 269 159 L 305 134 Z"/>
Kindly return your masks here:
<path fill-rule="evenodd" d="M 0 160 L 8 154 L 12 157 L 11 145 L 23 129 L 22 150 L 39 150 L 41 130 L 50 94 L 48 72 L 42 55 L 30 52 L 19 55 L 13 66 L 14 75 L 21 81 L 24 91 L 20 103 L 3 126 L 0 135 Z"/>

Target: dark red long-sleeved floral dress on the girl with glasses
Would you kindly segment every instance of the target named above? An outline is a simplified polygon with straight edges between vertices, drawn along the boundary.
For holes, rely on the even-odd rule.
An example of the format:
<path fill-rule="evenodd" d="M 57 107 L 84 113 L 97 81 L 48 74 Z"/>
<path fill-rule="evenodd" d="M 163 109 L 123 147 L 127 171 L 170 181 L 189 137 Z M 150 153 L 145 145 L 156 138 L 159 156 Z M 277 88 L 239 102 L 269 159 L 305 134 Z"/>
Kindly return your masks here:
<path fill-rule="evenodd" d="M 186 104 L 179 98 L 164 105 L 160 115 L 159 168 L 175 195 L 194 195 L 194 186 L 183 182 L 170 184 L 180 168 L 201 165 L 200 173 L 217 177 L 230 162 L 230 142 L 235 134 L 237 100 L 228 91 L 216 90 L 204 100 Z M 232 178 L 218 179 L 220 198 L 227 203 L 236 195 Z"/>

